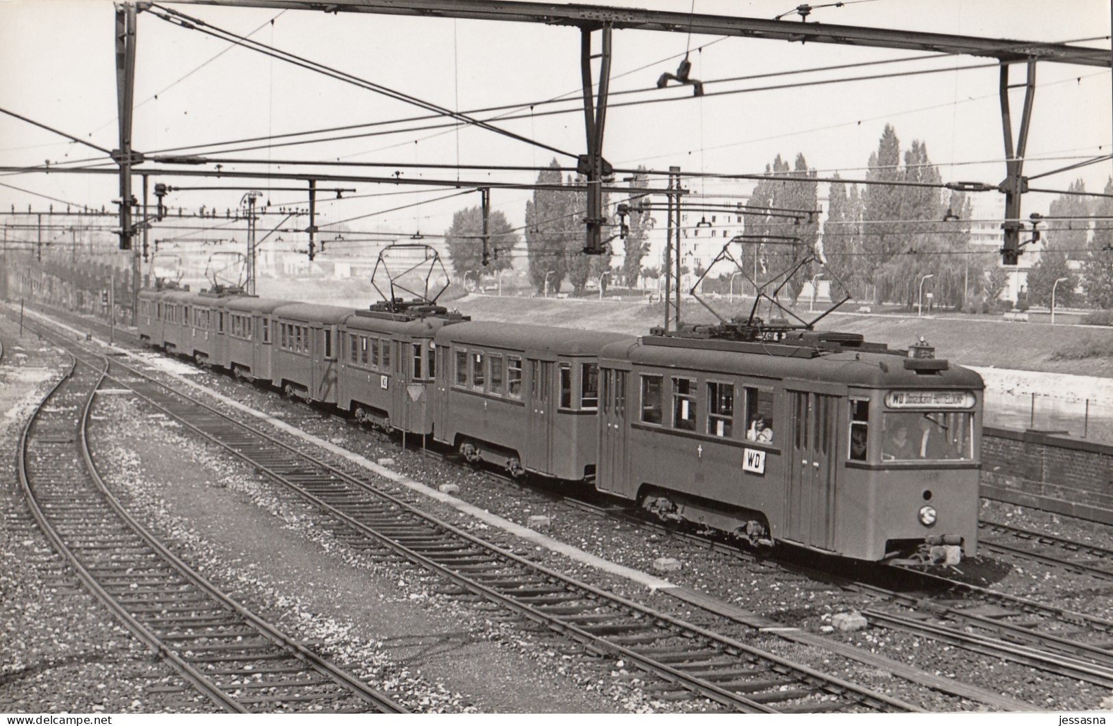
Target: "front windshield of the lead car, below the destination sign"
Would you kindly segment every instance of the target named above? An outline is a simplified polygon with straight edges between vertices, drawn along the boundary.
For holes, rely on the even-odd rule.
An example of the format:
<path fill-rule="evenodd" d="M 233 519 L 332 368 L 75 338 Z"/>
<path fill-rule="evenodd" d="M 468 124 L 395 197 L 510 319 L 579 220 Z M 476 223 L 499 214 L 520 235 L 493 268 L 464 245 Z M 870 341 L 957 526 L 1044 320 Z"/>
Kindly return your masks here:
<path fill-rule="evenodd" d="M 969 411 L 886 411 L 883 461 L 945 461 L 974 458 Z"/>

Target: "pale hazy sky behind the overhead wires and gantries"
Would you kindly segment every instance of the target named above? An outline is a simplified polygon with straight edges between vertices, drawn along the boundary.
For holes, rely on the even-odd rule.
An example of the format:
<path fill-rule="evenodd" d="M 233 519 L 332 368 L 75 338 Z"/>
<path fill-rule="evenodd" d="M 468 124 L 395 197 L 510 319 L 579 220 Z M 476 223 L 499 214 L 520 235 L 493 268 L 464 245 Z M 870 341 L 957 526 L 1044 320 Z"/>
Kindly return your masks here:
<path fill-rule="evenodd" d="M 601 2 L 698 13 L 771 19 L 791 10 L 795 0 L 639 0 Z M 817 3 L 818 4 L 818 3 Z M 325 63 L 361 79 L 396 89 L 442 107 L 472 111 L 510 106 L 518 118 L 498 124 L 516 135 L 556 149 L 584 150 L 580 95 L 579 30 L 540 23 L 402 18 L 363 13 L 168 4 L 237 35 Z M 798 21 L 797 16 L 787 20 Z M 1072 42 L 1110 48 L 1110 3 L 1105 0 L 857 0 L 817 8 L 809 22 L 861 24 L 991 38 Z M 117 146 L 114 10 L 109 2 L 85 0 L 0 0 L 0 108 L 27 116 L 104 148 Z M 597 36 L 598 37 L 598 36 Z M 597 40 L 598 42 L 598 40 Z M 148 154 L 193 150 L 195 145 L 272 137 L 311 129 L 372 124 L 424 116 L 413 106 L 326 78 L 304 68 L 233 47 L 196 30 L 139 14 L 134 147 Z M 692 98 L 690 89 L 656 89 L 657 78 L 674 71 L 688 52 L 691 76 L 707 90 L 737 90 Z M 688 173 L 759 174 L 778 155 L 790 163 L 802 154 L 820 176 L 838 173 L 864 178 L 871 151 L 886 124 L 902 150 L 927 145 L 946 182 L 997 184 L 1005 176 L 998 70 L 973 57 L 915 59 L 923 52 L 850 48 L 823 43 L 721 38 L 637 30 L 614 32 L 611 91 L 603 156 L 618 168 L 680 166 Z M 879 61 L 900 62 L 879 62 Z M 821 70 L 847 63 L 874 63 Z M 971 68 L 978 67 L 978 68 Z M 939 72 L 905 75 L 908 71 Z M 807 70 L 806 73 L 786 75 Z M 895 78 L 847 79 L 878 73 Z M 754 77 L 761 78 L 754 78 Z M 1014 67 L 1012 82 L 1023 80 Z M 743 78 L 742 80 L 723 80 Z M 838 80 L 823 85 L 801 85 Z M 545 105 L 569 97 L 572 102 Z M 673 99 L 620 106 L 639 99 Z M 1014 91 L 1020 118 L 1023 90 Z M 1111 73 L 1107 68 L 1042 62 L 1028 138 L 1025 174 L 1052 171 L 1109 154 L 1113 145 Z M 542 115 L 553 108 L 559 115 Z M 532 109 L 532 112 L 531 112 Z M 508 111 L 476 112 L 490 119 Z M 250 158 L 274 171 L 351 173 L 401 179 L 498 180 L 529 184 L 535 170 L 414 169 L 400 164 L 456 164 L 538 167 L 556 158 L 552 150 L 490 131 L 447 128 L 442 120 L 365 127 L 364 134 L 323 144 L 274 146 L 264 141 L 226 158 Z M 404 133 L 383 134 L 405 128 Z M 376 133 L 367 136 L 368 133 Z M 213 155 L 215 156 L 215 155 Z M 0 166 L 66 164 L 102 159 L 87 146 L 0 115 Z M 289 160 L 375 164 L 371 167 L 293 166 Z M 284 164 L 285 163 L 285 164 Z M 248 168 L 228 161 L 224 168 Z M 1081 178 L 1100 192 L 1113 173 L 1104 161 L 1042 177 L 1033 186 L 1066 189 Z M 155 179 L 152 179 L 154 183 Z M 272 208 L 305 206 L 304 183 L 221 182 L 159 178 L 174 186 L 237 186 L 171 193 L 167 203 L 197 209 L 235 208 L 249 188 Z M 693 193 L 738 194 L 745 185 L 692 178 Z M 0 209 L 45 210 L 63 202 L 114 208 L 117 182 L 110 176 L 7 174 L 0 178 Z M 335 230 L 375 228 L 442 234 L 454 212 L 479 204 L 479 194 L 459 189 L 376 185 L 364 182 L 322 187 L 354 189 L 335 200 L 321 194 L 318 226 Z M 137 196 L 141 187 L 136 186 Z M 45 195 L 45 196 L 37 196 Z M 492 206 L 512 225 L 524 219 L 529 190 L 496 189 Z M 823 196 L 823 190 L 821 190 Z M 999 204 L 1001 195 L 995 193 Z M 50 197 L 50 198 L 47 198 Z M 447 198 L 445 198 L 447 197 Z M 1054 195 L 1028 194 L 1024 215 L 1047 212 Z M 663 200 L 663 197 L 662 197 Z M 663 215 L 662 215 L 663 216 Z M 663 222 L 663 220 L 662 220 Z M 302 224 L 307 224 L 303 222 Z"/>

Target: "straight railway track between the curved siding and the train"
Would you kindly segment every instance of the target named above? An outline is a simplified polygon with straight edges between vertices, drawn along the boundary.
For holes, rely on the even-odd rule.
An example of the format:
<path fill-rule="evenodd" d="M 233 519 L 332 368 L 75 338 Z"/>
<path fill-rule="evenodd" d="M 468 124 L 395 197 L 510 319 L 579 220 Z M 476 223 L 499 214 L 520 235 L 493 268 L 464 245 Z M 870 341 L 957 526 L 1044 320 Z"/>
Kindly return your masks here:
<path fill-rule="evenodd" d="M 657 677 L 647 689 L 660 698 L 695 695 L 747 713 L 918 710 L 543 568 L 137 370 L 115 380 L 328 514 L 348 546 L 403 558 L 591 653 L 620 657 Z"/>

